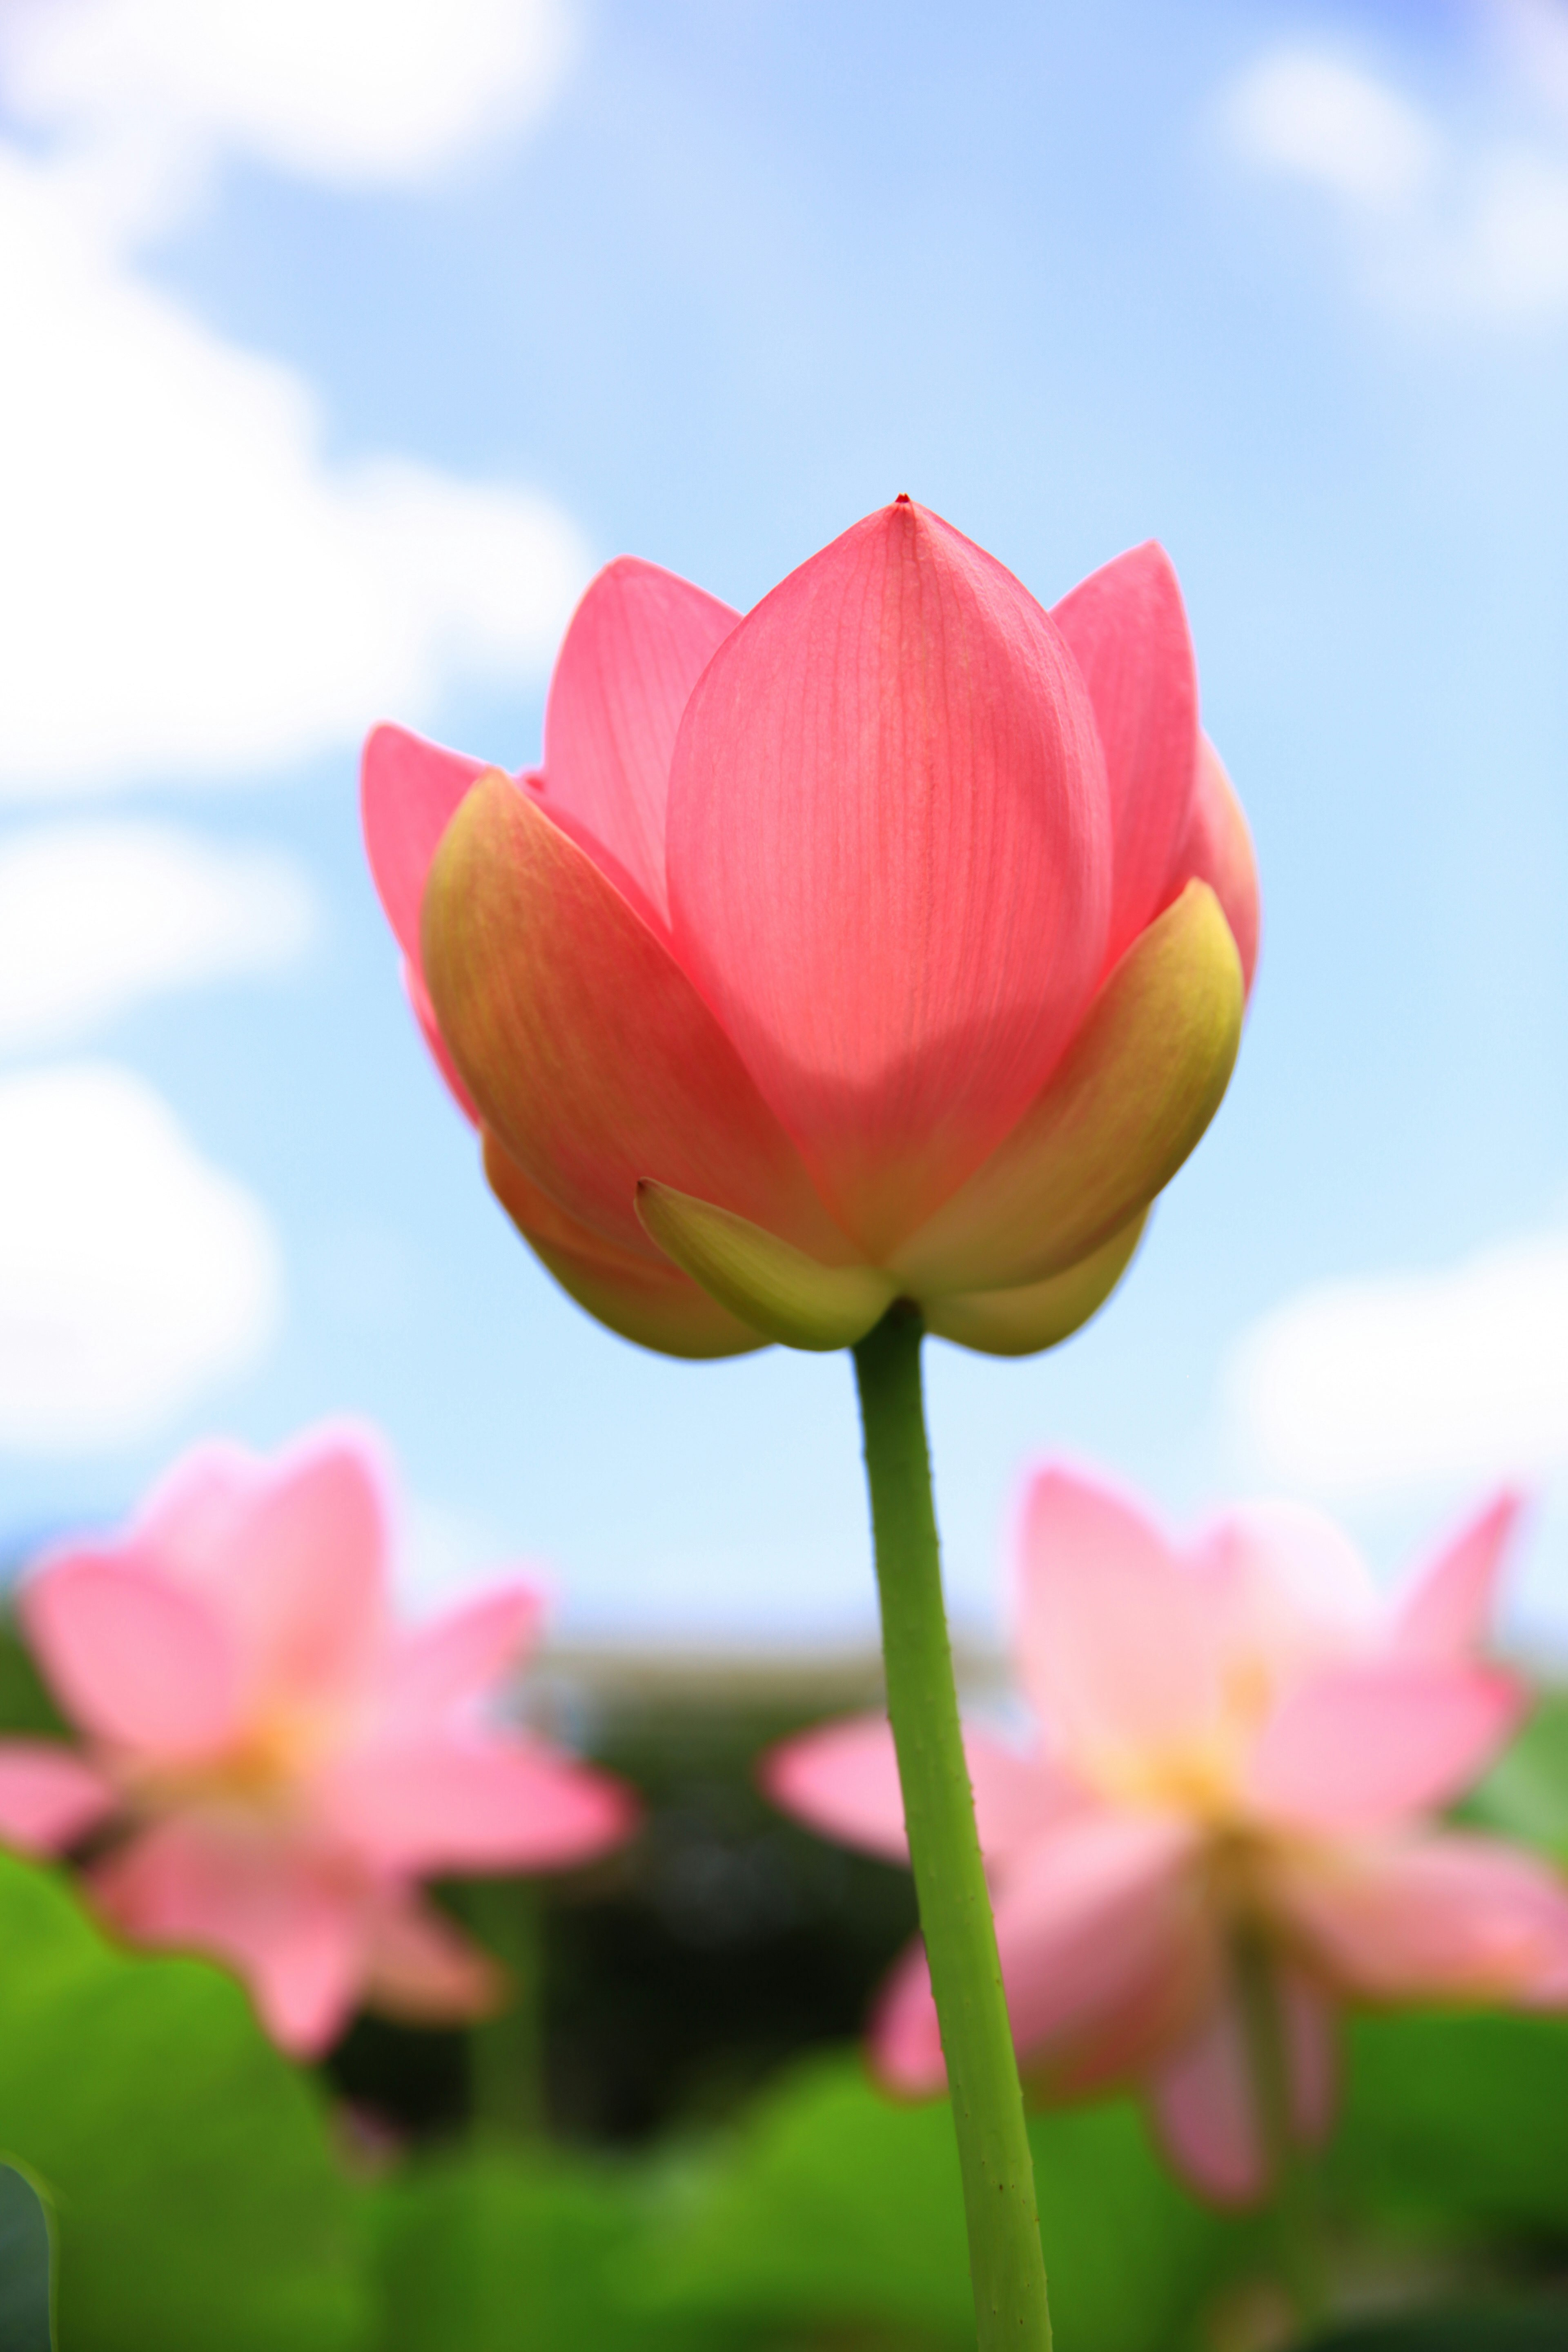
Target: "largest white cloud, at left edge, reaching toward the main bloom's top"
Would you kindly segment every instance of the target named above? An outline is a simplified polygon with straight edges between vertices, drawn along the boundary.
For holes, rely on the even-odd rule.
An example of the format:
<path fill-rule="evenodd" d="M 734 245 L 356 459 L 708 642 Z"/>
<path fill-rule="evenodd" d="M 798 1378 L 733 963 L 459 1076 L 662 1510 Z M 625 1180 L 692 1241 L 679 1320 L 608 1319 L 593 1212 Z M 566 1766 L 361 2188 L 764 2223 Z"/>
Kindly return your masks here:
<path fill-rule="evenodd" d="M 0 790 L 254 774 L 541 666 L 569 520 L 423 466 L 329 466 L 306 383 L 143 285 L 0 151 Z"/>

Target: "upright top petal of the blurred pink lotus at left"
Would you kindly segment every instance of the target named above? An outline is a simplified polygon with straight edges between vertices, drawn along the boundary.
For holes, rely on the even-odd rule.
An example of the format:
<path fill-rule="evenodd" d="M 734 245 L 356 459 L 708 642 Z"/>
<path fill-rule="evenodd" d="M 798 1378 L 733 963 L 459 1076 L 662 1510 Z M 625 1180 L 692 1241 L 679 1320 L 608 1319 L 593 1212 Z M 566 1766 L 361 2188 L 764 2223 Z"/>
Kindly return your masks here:
<path fill-rule="evenodd" d="M 212 1564 L 259 1710 L 360 1696 L 386 1635 L 388 1552 L 386 1470 L 367 1437 L 322 1430 L 263 1468 Z"/>

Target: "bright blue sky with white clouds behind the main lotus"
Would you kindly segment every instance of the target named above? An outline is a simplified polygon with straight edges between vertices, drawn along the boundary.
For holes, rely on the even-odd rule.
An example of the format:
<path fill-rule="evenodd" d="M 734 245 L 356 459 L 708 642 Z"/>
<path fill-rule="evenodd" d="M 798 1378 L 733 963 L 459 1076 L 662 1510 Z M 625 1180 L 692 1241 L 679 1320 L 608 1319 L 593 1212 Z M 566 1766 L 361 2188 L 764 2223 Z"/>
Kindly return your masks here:
<path fill-rule="evenodd" d="M 1164 539 L 1265 884 L 1124 1291 L 929 1350 L 959 1613 L 1060 1446 L 1380 1566 L 1568 1486 L 1568 12 L 400 0 L 367 87 L 362 0 L 233 56 L 183 7 L 0 45 L 12 1548 L 350 1411 L 425 1595 L 524 1552 L 578 1632 L 870 1621 L 849 1367 L 639 1355 L 489 1202 L 355 739 L 517 767 L 595 562 L 750 604 L 898 489 L 1046 600 Z M 1568 1628 L 1561 1505 L 1521 1592 Z"/>

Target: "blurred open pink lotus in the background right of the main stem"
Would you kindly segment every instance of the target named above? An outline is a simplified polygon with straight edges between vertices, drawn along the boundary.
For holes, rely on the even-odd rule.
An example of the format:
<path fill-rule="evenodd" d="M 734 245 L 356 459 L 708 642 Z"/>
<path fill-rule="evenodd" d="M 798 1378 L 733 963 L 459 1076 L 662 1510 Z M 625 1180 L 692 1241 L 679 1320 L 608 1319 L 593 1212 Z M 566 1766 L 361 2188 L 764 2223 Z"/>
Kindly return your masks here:
<path fill-rule="evenodd" d="M 1298 2143 L 1333 2112 L 1347 2002 L 1568 1999 L 1568 1891 L 1516 1849 L 1432 1825 L 1514 1731 L 1523 1689 L 1483 1656 L 1516 1515 L 1495 1501 L 1392 1609 L 1338 1531 L 1239 1510 L 1190 1550 L 1091 1479 L 1027 1491 L 1020 1752 L 966 1731 L 1018 2056 L 1041 2091 L 1135 2082 L 1206 2194 L 1269 2185 L 1241 1940 L 1262 1947 Z M 785 1811 L 905 1856 L 886 1724 L 776 1748 Z M 943 2086 L 919 1945 L 870 2030 L 889 2089 Z"/>

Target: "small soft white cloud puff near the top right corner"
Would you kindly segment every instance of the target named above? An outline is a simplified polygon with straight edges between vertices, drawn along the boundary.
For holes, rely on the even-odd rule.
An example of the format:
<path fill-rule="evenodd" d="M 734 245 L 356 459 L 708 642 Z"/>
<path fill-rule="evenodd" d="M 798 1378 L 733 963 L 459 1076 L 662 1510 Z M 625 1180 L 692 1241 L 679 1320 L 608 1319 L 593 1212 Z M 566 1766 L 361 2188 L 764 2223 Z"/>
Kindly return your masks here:
<path fill-rule="evenodd" d="M 1241 153 L 1366 205 L 1418 195 L 1439 160 L 1432 125 L 1371 75 L 1314 49 L 1281 49 L 1229 96 Z"/>

